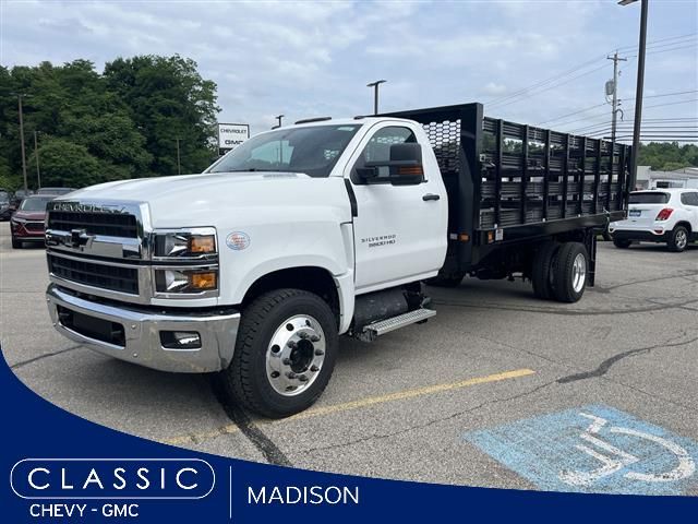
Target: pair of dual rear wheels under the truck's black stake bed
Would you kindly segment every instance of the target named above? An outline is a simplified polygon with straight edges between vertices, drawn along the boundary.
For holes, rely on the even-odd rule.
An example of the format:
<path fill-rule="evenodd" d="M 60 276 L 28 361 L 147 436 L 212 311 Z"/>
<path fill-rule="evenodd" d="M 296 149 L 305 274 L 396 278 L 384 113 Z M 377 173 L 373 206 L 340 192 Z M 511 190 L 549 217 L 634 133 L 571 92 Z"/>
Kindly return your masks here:
<path fill-rule="evenodd" d="M 543 245 L 533 258 L 533 293 L 542 299 L 576 302 L 585 294 L 589 253 L 580 242 Z"/>

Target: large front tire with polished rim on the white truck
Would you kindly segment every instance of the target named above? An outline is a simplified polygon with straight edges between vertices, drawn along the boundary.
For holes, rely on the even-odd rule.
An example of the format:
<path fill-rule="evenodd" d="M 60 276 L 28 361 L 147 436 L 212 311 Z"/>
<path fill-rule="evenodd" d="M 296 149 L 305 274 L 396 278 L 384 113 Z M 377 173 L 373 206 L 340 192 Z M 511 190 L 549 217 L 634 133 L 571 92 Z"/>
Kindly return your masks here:
<path fill-rule="evenodd" d="M 301 289 L 269 291 L 244 309 L 222 382 L 241 407 L 288 417 L 323 393 L 338 345 L 337 319 L 322 298 Z"/>

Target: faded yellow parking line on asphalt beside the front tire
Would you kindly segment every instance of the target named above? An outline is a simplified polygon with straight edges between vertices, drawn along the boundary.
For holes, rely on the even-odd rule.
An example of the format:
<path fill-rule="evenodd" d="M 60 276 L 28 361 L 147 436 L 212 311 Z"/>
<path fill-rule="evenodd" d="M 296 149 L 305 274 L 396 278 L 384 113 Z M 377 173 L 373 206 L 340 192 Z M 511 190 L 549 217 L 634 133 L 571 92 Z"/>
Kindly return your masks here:
<path fill-rule="evenodd" d="M 377 404 L 385 404 L 387 402 L 404 401 L 407 398 L 414 398 L 417 396 L 442 393 L 444 391 L 459 390 L 459 389 L 468 388 L 471 385 L 486 384 L 489 382 L 500 382 L 502 380 L 509 380 L 509 379 L 518 379 L 520 377 L 528 377 L 529 374 L 534 374 L 534 373 L 535 371 L 533 371 L 532 369 L 515 369 L 513 371 L 488 374 L 485 377 L 476 377 L 472 379 L 466 379 L 458 382 L 447 382 L 444 384 L 426 385 L 423 388 L 416 388 L 413 390 L 404 390 L 395 393 L 388 393 L 386 395 L 369 396 L 365 398 L 359 398 L 358 401 L 350 401 L 341 404 L 334 404 L 330 406 L 313 407 L 302 413 L 299 413 L 298 415 L 293 415 L 292 417 L 285 418 L 282 420 L 265 420 L 265 421 L 260 421 L 257 424 L 258 425 L 267 425 L 267 424 L 275 424 L 275 422 L 282 424 L 282 422 L 292 421 L 292 420 L 300 420 L 303 418 L 318 417 L 323 415 L 348 412 L 351 409 L 359 409 L 362 407 L 374 406 Z M 240 429 L 236 425 L 229 424 L 227 426 L 222 426 L 220 428 L 216 428 L 210 431 L 173 437 L 171 439 L 166 439 L 163 442 L 166 444 L 173 444 L 173 445 L 180 445 L 184 443 L 198 443 L 204 440 L 213 439 L 220 434 L 234 433 L 239 430 Z"/>

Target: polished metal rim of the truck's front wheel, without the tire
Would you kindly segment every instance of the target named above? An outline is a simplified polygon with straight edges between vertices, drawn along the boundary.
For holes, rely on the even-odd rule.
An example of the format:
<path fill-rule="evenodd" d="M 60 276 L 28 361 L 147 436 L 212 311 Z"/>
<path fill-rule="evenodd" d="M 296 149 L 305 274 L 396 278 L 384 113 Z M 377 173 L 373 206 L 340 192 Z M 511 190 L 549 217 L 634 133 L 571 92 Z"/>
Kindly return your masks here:
<path fill-rule="evenodd" d="M 266 376 L 284 396 L 298 395 L 320 376 L 325 361 L 325 333 L 317 320 L 297 314 L 279 325 L 266 350 Z"/>

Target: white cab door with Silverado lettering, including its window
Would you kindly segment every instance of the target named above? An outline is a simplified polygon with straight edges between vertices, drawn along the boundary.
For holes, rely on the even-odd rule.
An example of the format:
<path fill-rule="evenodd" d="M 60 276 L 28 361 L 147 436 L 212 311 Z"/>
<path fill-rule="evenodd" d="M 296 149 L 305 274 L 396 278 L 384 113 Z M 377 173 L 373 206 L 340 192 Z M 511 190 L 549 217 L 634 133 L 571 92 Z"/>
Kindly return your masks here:
<path fill-rule="evenodd" d="M 387 167 L 378 168 L 370 181 L 360 176 L 366 163 L 389 160 L 390 145 L 402 143 L 421 144 L 424 176 L 420 183 L 394 184 Z M 422 129 L 401 121 L 374 126 L 352 155 L 345 177 L 357 200 L 357 293 L 434 276 L 446 255 L 448 203 Z"/>

